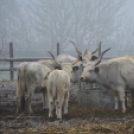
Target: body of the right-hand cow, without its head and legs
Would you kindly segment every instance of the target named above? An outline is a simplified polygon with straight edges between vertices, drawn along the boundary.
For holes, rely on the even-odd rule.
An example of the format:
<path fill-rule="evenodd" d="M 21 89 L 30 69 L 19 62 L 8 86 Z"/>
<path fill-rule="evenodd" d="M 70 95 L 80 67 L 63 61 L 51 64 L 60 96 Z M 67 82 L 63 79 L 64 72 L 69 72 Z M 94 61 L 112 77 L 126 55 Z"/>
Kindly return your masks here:
<path fill-rule="evenodd" d="M 105 66 L 105 68 L 104 68 Z M 100 64 L 103 74 L 111 85 L 134 87 L 134 59 L 131 57 L 120 57 L 111 59 Z"/>

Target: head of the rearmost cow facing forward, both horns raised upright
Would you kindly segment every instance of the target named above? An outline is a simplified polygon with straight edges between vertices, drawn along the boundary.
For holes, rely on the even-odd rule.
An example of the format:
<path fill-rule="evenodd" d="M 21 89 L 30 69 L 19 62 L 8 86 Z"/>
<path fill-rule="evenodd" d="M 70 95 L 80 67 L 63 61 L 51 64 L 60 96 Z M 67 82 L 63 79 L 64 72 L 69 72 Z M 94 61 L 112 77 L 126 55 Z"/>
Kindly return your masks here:
<path fill-rule="evenodd" d="M 81 59 L 83 63 L 88 63 L 98 58 L 94 54 L 99 50 L 102 42 L 98 44 L 97 48 L 93 52 L 90 52 L 88 50 L 81 52 L 73 41 L 70 41 L 70 42 L 75 46 L 76 52 L 78 53 L 78 57 Z"/>

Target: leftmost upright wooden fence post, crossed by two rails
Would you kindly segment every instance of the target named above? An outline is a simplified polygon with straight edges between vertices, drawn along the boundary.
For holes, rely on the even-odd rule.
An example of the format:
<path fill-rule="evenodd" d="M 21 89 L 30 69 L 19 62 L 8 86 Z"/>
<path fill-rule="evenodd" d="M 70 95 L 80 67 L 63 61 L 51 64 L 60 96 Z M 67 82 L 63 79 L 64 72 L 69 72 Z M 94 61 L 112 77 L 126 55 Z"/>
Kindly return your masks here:
<path fill-rule="evenodd" d="M 10 58 L 13 58 L 13 43 L 11 42 L 9 44 L 9 56 Z M 9 62 L 10 64 L 10 80 L 13 80 L 14 79 L 14 71 L 13 71 L 13 61 L 10 61 Z"/>

